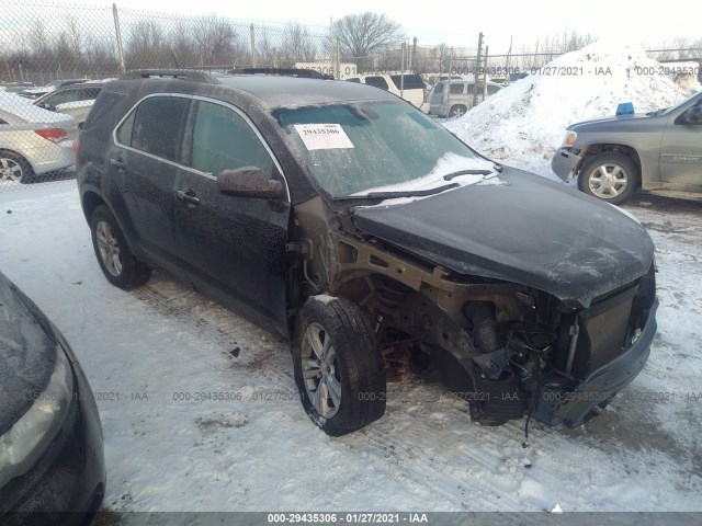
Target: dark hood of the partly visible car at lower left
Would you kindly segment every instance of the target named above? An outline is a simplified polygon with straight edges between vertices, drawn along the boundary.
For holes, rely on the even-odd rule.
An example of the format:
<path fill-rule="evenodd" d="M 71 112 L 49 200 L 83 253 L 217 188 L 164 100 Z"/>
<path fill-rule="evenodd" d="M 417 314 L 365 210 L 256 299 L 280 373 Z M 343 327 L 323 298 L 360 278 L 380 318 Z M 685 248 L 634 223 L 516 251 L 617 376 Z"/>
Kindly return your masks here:
<path fill-rule="evenodd" d="M 53 334 L 38 308 L 0 273 L 0 435 L 46 388 L 56 362 Z"/>

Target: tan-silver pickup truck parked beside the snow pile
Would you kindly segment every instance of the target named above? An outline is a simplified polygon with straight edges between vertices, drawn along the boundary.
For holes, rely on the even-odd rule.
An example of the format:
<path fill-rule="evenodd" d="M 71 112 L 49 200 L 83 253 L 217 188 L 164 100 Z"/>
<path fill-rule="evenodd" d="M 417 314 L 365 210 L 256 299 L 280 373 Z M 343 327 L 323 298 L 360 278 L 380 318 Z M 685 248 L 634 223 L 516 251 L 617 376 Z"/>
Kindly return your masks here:
<path fill-rule="evenodd" d="M 638 188 L 702 201 L 702 92 L 657 112 L 573 124 L 551 165 L 615 205 Z"/>

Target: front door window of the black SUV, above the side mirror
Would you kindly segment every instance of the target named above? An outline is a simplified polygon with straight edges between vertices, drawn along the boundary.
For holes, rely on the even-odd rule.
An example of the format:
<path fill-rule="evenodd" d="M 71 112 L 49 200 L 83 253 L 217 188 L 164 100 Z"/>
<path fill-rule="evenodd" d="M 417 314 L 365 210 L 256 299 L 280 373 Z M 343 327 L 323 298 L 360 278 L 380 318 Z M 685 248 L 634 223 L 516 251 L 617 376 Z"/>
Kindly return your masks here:
<path fill-rule="evenodd" d="M 192 142 L 192 168 L 217 175 L 224 170 L 257 167 L 273 179 L 273 161 L 251 126 L 235 111 L 197 103 Z"/>

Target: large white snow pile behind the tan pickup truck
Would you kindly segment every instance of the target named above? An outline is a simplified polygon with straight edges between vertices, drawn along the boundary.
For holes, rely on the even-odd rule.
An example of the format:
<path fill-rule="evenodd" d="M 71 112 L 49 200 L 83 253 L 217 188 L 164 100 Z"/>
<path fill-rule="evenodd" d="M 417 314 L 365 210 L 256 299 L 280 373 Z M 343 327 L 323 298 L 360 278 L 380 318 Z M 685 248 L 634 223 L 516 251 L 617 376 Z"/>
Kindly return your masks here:
<path fill-rule="evenodd" d="M 614 115 L 621 102 L 637 113 L 675 105 L 700 84 L 680 88 L 659 75 L 643 48 L 591 44 L 568 53 L 444 126 L 507 164 L 557 179 L 551 158 L 570 124 Z"/>

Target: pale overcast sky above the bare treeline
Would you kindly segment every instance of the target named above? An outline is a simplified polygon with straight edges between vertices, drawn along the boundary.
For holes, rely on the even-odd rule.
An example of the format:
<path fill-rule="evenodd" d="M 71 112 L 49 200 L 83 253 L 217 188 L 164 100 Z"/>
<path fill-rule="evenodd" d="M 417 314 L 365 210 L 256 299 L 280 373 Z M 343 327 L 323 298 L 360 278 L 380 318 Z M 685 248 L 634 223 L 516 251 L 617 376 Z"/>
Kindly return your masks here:
<path fill-rule="evenodd" d="M 99 0 L 93 3 L 112 3 Z M 690 41 L 702 37 L 702 2 L 667 0 L 653 9 L 650 3 L 633 0 L 589 0 L 587 2 L 521 0 L 116 0 L 117 8 L 148 9 L 188 14 L 217 13 L 241 21 L 285 23 L 296 20 L 315 25 L 321 33 L 329 18 L 363 11 L 385 12 L 399 22 L 406 35 L 419 38 L 419 45 L 445 42 L 452 46 L 476 47 L 477 35 L 485 33 L 491 54 L 505 53 L 510 36 L 514 50 L 531 46 L 536 38 L 559 36 L 564 32 L 593 34 L 600 38 L 658 45 L 678 36 Z M 147 7 L 148 5 L 148 7 Z"/>

